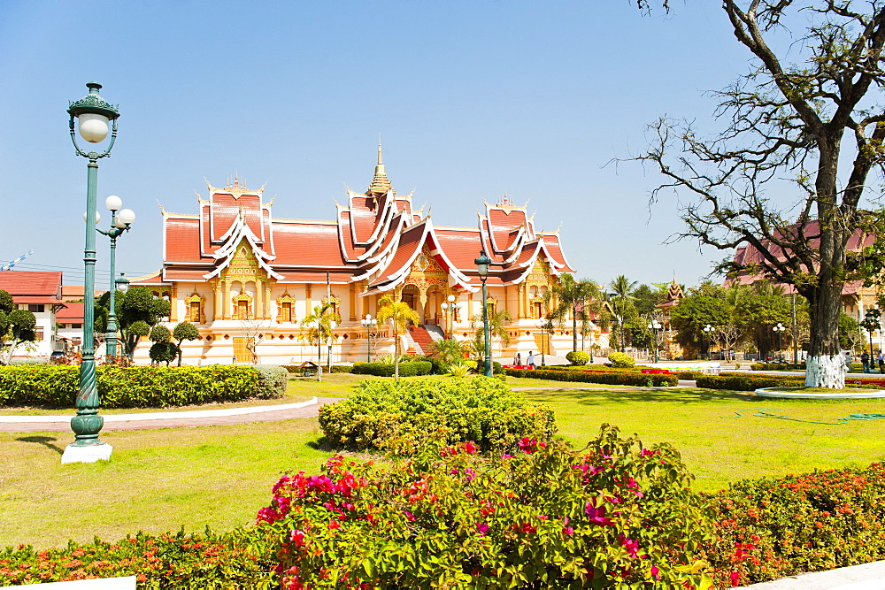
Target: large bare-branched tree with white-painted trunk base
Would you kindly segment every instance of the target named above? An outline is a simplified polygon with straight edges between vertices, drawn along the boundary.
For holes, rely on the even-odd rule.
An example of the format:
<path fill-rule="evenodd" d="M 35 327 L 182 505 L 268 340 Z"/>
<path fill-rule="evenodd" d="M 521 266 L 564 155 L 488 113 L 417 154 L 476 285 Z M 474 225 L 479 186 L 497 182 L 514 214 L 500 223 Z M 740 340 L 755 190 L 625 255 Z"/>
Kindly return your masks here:
<path fill-rule="evenodd" d="M 787 283 L 804 295 L 811 317 L 805 385 L 843 387 L 843 286 L 870 272 L 864 252 L 848 244 L 855 234 L 875 231 L 873 215 L 858 203 L 873 167 L 883 163 L 885 6 L 883 0 L 723 0 L 722 6 L 754 59 L 750 73 L 715 94 L 726 125 L 704 138 L 689 121 L 659 119 L 650 150 L 637 159 L 667 178 L 652 201 L 665 188 L 693 196 L 681 210 L 687 229 L 678 237 L 716 249 L 747 247 L 720 263 L 720 272 Z M 790 30 L 803 22 L 803 31 Z M 799 40 L 781 50 L 784 32 Z M 787 60 L 788 50 L 796 63 Z"/>

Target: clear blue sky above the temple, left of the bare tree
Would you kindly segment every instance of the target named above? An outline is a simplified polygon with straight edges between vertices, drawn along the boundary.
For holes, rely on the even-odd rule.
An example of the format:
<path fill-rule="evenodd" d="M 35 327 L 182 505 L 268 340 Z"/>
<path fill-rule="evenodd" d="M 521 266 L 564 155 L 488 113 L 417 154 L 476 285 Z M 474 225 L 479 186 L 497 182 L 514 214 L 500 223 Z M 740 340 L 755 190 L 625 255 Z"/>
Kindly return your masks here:
<path fill-rule="evenodd" d="M 719 3 L 671 4 L 6 0 L 0 263 L 34 248 L 22 270 L 81 284 L 86 161 L 65 110 L 97 80 L 121 112 L 99 211 L 116 194 L 138 215 L 119 241 L 129 275 L 160 266 L 157 203 L 195 213 L 204 177 L 266 182 L 278 217 L 333 218 L 345 184 L 368 186 L 381 134 L 394 188 L 437 225 L 475 226 L 506 191 L 561 225 L 581 277 L 695 284 L 725 254 L 663 245 L 676 199 L 649 209 L 658 175 L 610 163 L 658 116 L 703 126 L 704 91 L 748 69 Z"/>

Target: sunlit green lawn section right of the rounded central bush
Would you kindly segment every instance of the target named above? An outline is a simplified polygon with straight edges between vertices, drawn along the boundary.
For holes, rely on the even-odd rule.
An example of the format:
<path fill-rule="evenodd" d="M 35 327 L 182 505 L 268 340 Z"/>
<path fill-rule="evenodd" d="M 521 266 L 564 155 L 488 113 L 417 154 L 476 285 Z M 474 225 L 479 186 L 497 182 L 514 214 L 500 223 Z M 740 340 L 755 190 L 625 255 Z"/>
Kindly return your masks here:
<path fill-rule="evenodd" d="M 779 477 L 815 469 L 885 460 L 885 419 L 835 422 L 851 414 L 885 414 L 885 400 L 785 400 L 710 389 L 523 392 L 556 412 L 559 435 L 581 446 L 599 425 L 618 425 L 646 444 L 670 442 L 681 452 L 696 487 Z M 762 409 L 784 418 L 752 416 Z M 796 420 L 804 420 L 802 422 Z"/>

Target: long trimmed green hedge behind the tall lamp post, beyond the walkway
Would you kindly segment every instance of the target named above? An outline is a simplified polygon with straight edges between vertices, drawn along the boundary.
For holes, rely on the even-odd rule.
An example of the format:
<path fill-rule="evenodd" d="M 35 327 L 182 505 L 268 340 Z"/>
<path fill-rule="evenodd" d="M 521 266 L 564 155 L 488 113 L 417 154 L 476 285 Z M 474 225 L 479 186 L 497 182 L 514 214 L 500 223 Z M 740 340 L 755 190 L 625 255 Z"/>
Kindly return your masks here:
<path fill-rule="evenodd" d="M 96 367 L 104 408 L 165 408 L 212 402 L 280 397 L 279 373 L 259 377 L 255 367 L 212 364 L 205 367 Z M 0 367 L 0 406 L 72 408 L 80 387 L 75 365 Z"/>

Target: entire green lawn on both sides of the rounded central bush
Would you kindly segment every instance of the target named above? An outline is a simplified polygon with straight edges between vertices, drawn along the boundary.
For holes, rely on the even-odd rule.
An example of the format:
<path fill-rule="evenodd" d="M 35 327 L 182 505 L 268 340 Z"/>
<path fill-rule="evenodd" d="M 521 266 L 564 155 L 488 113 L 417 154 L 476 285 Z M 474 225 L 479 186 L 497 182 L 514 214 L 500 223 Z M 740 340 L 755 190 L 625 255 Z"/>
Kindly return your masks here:
<path fill-rule="evenodd" d="M 328 375 L 322 383 L 293 379 L 286 401 L 348 395 L 359 379 L 348 374 Z M 532 380 L 510 381 L 525 387 Z M 882 400 L 773 400 L 701 389 L 611 387 L 523 395 L 553 407 L 559 432 L 576 445 L 603 422 L 638 433 L 646 444 L 673 443 L 700 489 L 885 459 L 885 420 L 820 425 L 752 416 L 757 412 L 722 418 L 758 408 L 832 422 L 850 414 L 885 413 Z M 105 433 L 104 440 L 114 446 L 111 462 L 62 465 L 60 453 L 72 434 L 0 433 L 0 546 L 48 547 L 93 535 L 118 539 L 138 529 L 158 533 L 181 525 L 193 531 L 250 523 L 269 501 L 281 472 L 315 471 L 331 454 L 319 448 L 319 437 L 315 418 Z"/>

